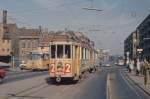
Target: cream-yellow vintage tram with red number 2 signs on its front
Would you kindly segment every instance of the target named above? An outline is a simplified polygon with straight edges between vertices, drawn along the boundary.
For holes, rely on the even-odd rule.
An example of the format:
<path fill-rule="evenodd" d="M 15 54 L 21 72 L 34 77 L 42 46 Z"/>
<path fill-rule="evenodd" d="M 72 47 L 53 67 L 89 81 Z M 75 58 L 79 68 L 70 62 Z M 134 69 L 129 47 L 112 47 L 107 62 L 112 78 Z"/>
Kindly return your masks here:
<path fill-rule="evenodd" d="M 87 37 L 54 35 L 49 43 L 49 74 L 52 80 L 79 80 L 96 70 L 97 51 Z"/>

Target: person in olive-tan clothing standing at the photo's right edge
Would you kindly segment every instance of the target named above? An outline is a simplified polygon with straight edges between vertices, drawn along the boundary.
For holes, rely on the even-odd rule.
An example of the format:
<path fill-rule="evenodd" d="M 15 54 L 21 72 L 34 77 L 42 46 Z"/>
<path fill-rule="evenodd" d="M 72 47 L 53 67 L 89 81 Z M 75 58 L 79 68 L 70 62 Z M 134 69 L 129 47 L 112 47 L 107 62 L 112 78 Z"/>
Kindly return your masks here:
<path fill-rule="evenodd" d="M 149 76 L 149 70 L 150 69 L 150 64 L 146 59 L 144 59 L 144 85 L 147 85 L 148 82 L 148 76 Z"/>

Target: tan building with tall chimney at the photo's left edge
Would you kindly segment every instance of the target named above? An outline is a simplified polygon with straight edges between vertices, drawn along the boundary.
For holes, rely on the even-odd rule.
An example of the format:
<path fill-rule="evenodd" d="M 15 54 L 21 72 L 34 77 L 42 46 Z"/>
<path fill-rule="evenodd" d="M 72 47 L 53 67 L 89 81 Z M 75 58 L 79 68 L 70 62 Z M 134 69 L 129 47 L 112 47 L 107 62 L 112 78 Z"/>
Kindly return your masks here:
<path fill-rule="evenodd" d="M 10 62 L 13 40 L 15 39 L 16 24 L 7 23 L 7 11 L 3 11 L 3 22 L 0 23 L 0 61 Z"/>

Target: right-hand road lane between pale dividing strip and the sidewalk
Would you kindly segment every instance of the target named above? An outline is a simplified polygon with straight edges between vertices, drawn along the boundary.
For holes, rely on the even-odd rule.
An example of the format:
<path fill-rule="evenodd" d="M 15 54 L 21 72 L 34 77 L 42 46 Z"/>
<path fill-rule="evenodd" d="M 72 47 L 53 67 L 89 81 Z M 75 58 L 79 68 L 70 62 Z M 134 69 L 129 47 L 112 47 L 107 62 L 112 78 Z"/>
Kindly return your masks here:
<path fill-rule="evenodd" d="M 128 81 L 123 71 L 123 68 L 115 67 L 108 73 L 110 75 L 109 99 L 150 99 L 150 96 Z"/>

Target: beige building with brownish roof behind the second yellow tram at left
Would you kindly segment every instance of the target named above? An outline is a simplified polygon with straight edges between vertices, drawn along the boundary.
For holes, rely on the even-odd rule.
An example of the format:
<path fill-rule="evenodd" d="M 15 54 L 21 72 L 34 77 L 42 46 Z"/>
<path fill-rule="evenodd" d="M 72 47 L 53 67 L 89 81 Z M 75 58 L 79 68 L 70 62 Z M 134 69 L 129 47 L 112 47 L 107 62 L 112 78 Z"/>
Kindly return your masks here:
<path fill-rule="evenodd" d="M 38 49 L 39 29 L 18 28 L 19 57 L 25 58 L 30 51 Z"/>

